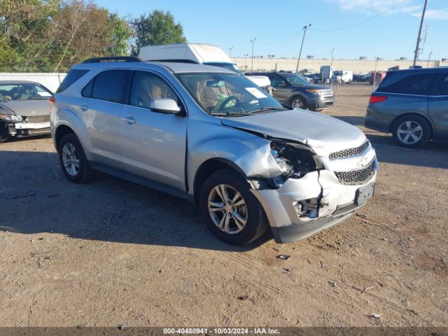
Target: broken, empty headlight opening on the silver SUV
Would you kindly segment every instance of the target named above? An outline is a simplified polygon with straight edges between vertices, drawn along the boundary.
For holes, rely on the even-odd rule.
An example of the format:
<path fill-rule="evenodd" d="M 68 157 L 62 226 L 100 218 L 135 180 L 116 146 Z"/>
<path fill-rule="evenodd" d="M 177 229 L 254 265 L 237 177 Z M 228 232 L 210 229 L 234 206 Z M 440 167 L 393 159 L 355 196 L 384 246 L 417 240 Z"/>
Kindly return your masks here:
<path fill-rule="evenodd" d="M 309 172 L 323 168 L 321 159 L 302 144 L 283 141 L 271 141 L 271 155 L 281 168 L 283 175 L 300 179 Z"/>

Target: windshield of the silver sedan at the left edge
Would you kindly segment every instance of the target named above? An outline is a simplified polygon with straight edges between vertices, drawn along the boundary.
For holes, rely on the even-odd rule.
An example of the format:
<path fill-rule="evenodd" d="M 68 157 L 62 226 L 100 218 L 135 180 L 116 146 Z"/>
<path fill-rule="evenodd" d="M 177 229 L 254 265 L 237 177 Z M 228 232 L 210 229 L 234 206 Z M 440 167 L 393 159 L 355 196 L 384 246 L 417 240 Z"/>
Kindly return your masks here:
<path fill-rule="evenodd" d="M 35 83 L 0 84 L 0 101 L 48 99 L 52 93 L 42 85 Z"/>

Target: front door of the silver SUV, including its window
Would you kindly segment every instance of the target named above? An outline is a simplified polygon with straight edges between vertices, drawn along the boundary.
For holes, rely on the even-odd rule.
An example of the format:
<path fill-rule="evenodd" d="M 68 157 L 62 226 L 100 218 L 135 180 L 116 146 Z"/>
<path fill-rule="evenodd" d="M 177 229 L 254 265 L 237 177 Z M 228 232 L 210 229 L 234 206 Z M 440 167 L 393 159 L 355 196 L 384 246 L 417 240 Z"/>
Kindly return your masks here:
<path fill-rule="evenodd" d="M 124 168 L 130 177 L 184 191 L 188 118 L 151 111 L 153 99 L 174 99 L 183 106 L 167 80 L 149 71 L 135 71 L 129 105 L 121 113 Z"/>

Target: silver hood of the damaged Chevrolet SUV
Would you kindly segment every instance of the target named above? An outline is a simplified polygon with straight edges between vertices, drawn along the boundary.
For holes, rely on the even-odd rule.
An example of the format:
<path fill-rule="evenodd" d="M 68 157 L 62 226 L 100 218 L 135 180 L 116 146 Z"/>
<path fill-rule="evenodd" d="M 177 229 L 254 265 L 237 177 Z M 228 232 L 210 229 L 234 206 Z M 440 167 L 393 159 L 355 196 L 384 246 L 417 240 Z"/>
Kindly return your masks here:
<path fill-rule="evenodd" d="M 358 127 L 323 114 L 300 109 L 256 114 L 247 117 L 221 118 L 229 127 L 258 132 L 280 139 L 307 144 L 317 155 L 358 147 L 366 140 Z"/>

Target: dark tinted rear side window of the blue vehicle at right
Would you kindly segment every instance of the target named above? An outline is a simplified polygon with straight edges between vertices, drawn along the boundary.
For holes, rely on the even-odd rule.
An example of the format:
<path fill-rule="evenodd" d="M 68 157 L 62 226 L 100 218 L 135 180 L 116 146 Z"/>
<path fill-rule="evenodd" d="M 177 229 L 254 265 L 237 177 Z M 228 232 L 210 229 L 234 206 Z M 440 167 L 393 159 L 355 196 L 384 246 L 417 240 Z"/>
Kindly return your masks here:
<path fill-rule="evenodd" d="M 377 88 L 377 92 L 421 94 L 427 96 L 433 87 L 434 73 L 419 73 L 402 78 L 398 75 L 388 75 Z"/>

